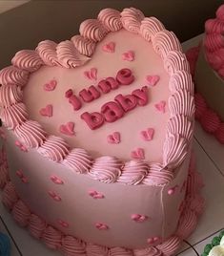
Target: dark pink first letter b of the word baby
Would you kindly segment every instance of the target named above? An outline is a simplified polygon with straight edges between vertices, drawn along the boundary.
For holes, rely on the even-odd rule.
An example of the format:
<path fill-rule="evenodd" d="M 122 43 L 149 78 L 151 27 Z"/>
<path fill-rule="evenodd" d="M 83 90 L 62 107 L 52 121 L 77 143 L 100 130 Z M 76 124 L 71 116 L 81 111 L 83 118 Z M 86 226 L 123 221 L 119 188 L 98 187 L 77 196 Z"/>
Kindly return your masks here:
<path fill-rule="evenodd" d="M 94 130 L 99 128 L 104 123 L 104 117 L 98 112 L 85 112 L 81 115 L 81 118 L 88 124 L 88 126 Z"/>

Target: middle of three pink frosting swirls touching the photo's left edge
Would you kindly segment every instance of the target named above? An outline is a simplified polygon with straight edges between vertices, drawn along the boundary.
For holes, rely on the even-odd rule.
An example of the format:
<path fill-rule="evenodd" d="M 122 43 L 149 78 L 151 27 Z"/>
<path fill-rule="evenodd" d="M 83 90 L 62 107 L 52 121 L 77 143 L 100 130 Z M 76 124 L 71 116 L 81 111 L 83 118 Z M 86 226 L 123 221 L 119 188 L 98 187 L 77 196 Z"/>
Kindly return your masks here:
<path fill-rule="evenodd" d="M 16 85 L 2 85 L 0 87 L 0 106 L 10 107 L 10 105 L 21 102 L 23 92 L 21 87 Z"/>

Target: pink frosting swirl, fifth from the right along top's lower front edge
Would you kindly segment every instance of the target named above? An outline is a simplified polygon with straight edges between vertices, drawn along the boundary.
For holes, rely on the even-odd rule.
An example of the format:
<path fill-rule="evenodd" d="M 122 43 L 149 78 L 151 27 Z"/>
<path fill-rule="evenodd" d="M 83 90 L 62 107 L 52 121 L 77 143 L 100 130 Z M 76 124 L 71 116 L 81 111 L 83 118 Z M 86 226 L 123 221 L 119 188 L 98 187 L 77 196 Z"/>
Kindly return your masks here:
<path fill-rule="evenodd" d="M 69 153 L 69 145 L 60 137 L 50 136 L 37 150 L 49 160 L 62 161 Z"/>

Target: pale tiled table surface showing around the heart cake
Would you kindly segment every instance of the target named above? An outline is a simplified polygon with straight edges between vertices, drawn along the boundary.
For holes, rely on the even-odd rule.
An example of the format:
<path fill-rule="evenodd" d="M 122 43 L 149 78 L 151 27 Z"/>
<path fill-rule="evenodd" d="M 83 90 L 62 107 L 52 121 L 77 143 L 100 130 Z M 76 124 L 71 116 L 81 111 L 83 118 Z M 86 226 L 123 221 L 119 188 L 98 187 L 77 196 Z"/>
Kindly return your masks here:
<path fill-rule="evenodd" d="M 197 45 L 201 37 L 202 35 L 198 35 L 184 42 L 183 49 L 186 51 Z M 206 134 L 200 124 L 196 122 L 193 150 L 197 160 L 197 170 L 202 174 L 205 183 L 202 194 L 206 200 L 206 209 L 193 235 L 187 241 L 201 254 L 204 246 L 210 243 L 214 235 L 224 228 L 224 206 L 222 204 L 224 203 L 224 146 L 213 136 Z M 61 255 L 31 238 L 26 229 L 15 224 L 2 203 L 0 203 L 0 230 L 10 236 L 11 256 Z M 193 248 L 183 244 L 177 255 L 196 255 Z"/>

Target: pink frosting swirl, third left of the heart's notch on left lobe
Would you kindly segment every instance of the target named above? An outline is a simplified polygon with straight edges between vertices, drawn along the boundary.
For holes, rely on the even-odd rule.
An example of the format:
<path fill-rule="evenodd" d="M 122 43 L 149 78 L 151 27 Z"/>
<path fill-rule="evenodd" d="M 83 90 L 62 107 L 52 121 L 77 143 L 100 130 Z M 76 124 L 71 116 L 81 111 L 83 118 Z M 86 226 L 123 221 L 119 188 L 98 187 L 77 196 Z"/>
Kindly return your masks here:
<path fill-rule="evenodd" d="M 11 63 L 13 66 L 29 72 L 38 70 L 44 64 L 39 54 L 31 50 L 19 51 L 11 59 Z"/>

